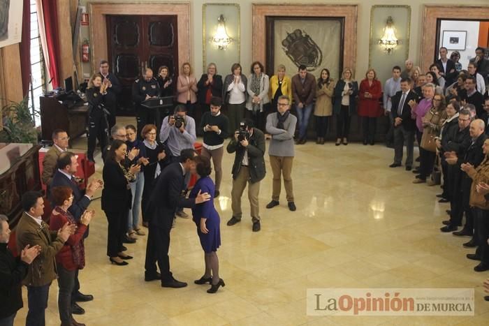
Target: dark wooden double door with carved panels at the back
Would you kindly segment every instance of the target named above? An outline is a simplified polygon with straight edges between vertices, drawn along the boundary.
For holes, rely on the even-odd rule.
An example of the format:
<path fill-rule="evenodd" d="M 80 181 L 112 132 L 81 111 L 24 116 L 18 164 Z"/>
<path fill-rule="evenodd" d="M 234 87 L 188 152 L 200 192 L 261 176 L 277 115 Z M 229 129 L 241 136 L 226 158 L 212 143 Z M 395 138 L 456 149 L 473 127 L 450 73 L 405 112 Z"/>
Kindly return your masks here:
<path fill-rule="evenodd" d="M 122 84 L 119 115 L 133 115 L 131 89 L 152 68 L 168 66 L 178 75 L 177 15 L 108 15 L 108 61 Z M 173 78 L 175 80 L 175 78 Z"/>

